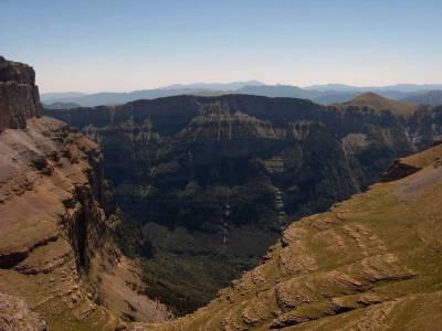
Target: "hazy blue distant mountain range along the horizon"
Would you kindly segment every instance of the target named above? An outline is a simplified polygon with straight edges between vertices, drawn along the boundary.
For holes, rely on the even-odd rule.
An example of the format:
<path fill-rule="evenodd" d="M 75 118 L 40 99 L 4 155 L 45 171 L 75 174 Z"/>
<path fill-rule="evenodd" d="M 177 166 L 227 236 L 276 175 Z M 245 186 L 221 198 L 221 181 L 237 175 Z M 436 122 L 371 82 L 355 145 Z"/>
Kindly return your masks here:
<path fill-rule="evenodd" d="M 224 94 L 248 94 L 267 97 L 292 97 L 311 99 L 329 105 L 346 103 L 364 93 L 377 93 L 382 97 L 404 100 L 413 104 L 441 105 L 442 84 L 398 84 L 389 86 L 358 87 L 344 84 L 313 85 L 304 88 L 293 85 L 266 85 L 259 81 L 232 83 L 194 83 L 175 84 L 154 89 L 141 89 L 128 93 L 103 92 L 83 94 L 43 93 L 42 102 L 46 108 L 71 108 L 75 106 L 93 107 L 99 105 L 120 105 L 137 99 L 154 99 L 175 95 L 219 96 Z"/>

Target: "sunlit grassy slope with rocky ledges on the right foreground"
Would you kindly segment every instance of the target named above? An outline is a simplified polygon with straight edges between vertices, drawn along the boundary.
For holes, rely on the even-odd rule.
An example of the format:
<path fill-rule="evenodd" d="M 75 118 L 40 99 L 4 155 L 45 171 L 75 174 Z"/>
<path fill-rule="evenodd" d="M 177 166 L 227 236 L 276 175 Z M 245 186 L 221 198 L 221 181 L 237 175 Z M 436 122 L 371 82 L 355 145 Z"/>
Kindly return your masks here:
<path fill-rule="evenodd" d="M 438 330 L 442 150 L 403 162 L 417 172 L 293 223 L 210 305 L 144 330 Z"/>

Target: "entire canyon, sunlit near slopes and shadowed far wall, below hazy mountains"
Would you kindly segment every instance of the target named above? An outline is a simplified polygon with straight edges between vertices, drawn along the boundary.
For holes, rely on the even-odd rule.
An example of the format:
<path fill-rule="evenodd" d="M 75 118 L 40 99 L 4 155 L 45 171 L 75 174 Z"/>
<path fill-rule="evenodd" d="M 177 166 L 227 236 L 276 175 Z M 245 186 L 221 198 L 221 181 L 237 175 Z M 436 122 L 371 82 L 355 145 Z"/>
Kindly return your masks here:
<path fill-rule="evenodd" d="M 0 329 L 434 330 L 441 137 L 372 93 L 42 109 L 0 57 Z"/>

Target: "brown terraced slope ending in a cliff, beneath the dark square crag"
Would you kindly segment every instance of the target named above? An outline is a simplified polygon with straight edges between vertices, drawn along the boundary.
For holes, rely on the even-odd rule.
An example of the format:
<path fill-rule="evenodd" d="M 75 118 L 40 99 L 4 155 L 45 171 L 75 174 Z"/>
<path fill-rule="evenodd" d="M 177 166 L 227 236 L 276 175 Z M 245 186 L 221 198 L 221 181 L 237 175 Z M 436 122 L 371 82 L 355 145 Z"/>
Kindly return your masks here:
<path fill-rule="evenodd" d="M 53 329 L 107 323 L 81 279 L 105 239 L 97 146 L 43 117 L 1 132 L 0 151 L 0 292 L 25 300 Z"/>

